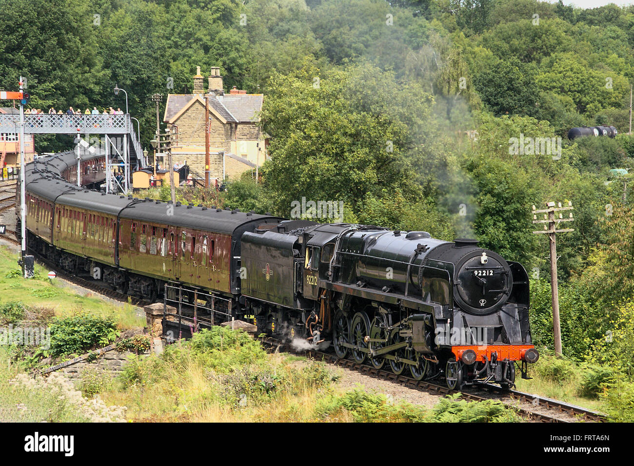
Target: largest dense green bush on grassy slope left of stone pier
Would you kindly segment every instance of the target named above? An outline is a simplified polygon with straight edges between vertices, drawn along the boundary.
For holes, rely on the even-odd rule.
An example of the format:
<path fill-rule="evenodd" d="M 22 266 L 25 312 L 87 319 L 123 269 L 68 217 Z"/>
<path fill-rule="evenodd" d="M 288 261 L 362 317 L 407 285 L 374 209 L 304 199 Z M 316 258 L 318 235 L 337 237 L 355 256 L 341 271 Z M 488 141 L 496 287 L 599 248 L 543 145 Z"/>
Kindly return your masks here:
<path fill-rule="evenodd" d="M 107 346 L 117 335 L 117 324 L 110 318 L 90 314 L 55 318 L 51 324 L 51 348 L 42 354 L 57 358 L 85 353 L 89 349 Z"/>

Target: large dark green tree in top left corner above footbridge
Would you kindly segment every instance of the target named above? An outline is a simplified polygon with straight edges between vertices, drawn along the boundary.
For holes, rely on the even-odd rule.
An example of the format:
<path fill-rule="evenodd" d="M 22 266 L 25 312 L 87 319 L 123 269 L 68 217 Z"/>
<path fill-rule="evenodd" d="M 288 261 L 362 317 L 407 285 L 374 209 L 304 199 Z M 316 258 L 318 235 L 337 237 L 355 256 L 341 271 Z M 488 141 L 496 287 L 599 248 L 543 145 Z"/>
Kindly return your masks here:
<path fill-rule="evenodd" d="M 88 105 L 107 73 L 84 0 L 6 0 L 0 8 L 0 88 L 27 78 L 31 107 Z M 69 33 L 69 32 L 72 32 Z"/>

